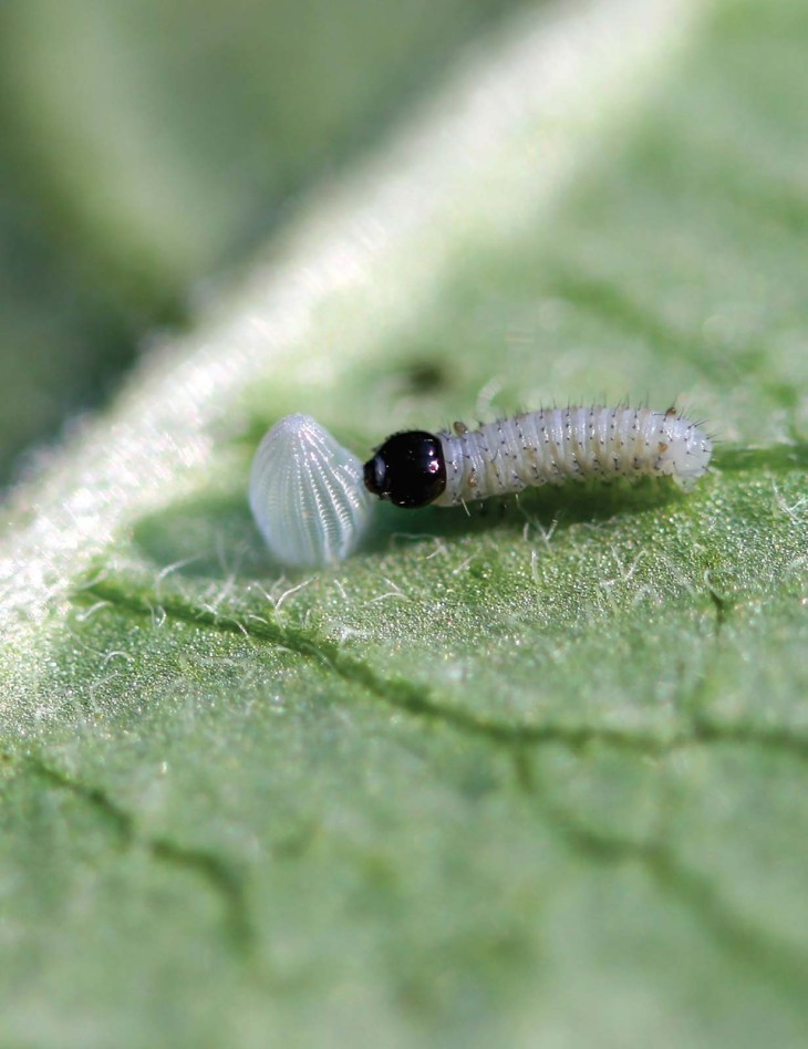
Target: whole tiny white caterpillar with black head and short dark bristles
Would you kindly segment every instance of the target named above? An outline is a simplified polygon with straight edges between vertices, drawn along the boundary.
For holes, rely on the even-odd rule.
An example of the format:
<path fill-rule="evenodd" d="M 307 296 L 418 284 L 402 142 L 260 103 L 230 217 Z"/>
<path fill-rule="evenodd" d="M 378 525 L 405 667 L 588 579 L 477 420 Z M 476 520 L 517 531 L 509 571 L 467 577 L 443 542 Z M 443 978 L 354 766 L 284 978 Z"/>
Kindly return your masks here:
<path fill-rule="evenodd" d="M 688 491 L 713 442 L 675 408 L 570 407 L 524 412 L 468 429 L 393 434 L 364 465 L 369 491 L 398 507 L 457 506 L 535 485 L 646 475 Z"/>

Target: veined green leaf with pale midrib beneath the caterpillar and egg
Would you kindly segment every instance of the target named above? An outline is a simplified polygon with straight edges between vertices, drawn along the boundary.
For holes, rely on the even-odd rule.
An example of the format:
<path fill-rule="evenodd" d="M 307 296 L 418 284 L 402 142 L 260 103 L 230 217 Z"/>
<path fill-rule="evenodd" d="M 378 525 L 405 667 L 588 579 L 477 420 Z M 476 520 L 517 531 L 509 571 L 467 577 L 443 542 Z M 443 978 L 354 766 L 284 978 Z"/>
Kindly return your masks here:
<path fill-rule="evenodd" d="M 808 1034 L 808 17 L 532 13 L 7 508 L 6 1042 Z M 380 509 L 287 575 L 280 415 L 365 451 L 676 399 L 691 496 Z"/>

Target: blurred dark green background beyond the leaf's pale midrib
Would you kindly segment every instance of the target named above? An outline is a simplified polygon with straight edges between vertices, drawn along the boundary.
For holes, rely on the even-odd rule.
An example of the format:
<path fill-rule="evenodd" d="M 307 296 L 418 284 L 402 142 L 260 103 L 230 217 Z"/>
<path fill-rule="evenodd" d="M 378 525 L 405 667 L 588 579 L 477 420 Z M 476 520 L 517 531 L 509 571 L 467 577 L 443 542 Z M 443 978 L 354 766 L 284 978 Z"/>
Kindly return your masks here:
<path fill-rule="evenodd" d="M 518 0 L 6 0 L 0 482 Z"/>

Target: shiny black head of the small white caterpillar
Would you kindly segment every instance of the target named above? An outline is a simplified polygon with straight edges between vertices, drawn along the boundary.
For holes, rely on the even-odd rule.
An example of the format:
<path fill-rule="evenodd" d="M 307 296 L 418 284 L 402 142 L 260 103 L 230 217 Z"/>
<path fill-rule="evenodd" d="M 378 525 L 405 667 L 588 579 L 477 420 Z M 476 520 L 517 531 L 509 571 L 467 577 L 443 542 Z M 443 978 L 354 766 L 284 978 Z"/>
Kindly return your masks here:
<path fill-rule="evenodd" d="M 393 434 L 364 465 L 365 488 L 394 506 L 415 510 L 446 488 L 441 438 L 423 429 Z"/>

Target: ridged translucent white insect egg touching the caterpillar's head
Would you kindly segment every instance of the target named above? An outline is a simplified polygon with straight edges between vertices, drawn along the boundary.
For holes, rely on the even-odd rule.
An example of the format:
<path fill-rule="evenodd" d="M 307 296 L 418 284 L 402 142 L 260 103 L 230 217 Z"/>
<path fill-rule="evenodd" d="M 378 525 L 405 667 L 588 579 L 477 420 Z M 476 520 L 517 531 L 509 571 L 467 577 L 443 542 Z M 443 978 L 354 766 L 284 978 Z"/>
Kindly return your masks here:
<path fill-rule="evenodd" d="M 252 516 L 286 565 L 319 568 L 352 553 L 371 519 L 362 464 L 308 415 L 266 434 L 250 474 Z"/>

